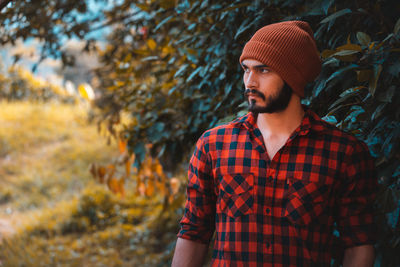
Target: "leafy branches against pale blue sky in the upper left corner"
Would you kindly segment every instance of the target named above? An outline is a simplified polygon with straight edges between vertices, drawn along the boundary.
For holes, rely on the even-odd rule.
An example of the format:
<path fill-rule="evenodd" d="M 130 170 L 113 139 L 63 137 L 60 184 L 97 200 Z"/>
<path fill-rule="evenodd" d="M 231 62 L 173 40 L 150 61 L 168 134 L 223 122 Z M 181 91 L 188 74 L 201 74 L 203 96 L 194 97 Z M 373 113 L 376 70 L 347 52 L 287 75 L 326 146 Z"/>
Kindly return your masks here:
<path fill-rule="evenodd" d="M 94 2 L 105 4 L 107 0 Z M 83 38 L 89 31 L 88 22 L 102 19 L 102 13 L 89 10 L 87 1 L 12 1 L 0 14 L 0 43 L 15 45 L 18 39 L 37 38 L 44 41 L 40 61 L 46 56 L 60 57 L 64 64 L 70 65 L 74 59 L 64 50 L 66 38 L 60 38 L 60 34 Z M 89 38 L 86 50 L 90 49 L 90 44 Z M 15 60 L 19 57 L 15 55 Z"/>

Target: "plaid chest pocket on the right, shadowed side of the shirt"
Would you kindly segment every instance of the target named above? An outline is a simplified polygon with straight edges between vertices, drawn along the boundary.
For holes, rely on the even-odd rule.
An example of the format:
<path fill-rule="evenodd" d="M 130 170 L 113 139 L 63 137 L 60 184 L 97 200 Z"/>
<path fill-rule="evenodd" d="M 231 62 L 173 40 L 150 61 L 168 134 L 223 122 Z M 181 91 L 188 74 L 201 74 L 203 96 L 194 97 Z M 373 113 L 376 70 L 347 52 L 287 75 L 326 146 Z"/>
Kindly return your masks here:
<path fill-rule="evenodd" d="M 327 215 L 331 184 L 289 178 L 282 216 L 296 225 L 323 222 Z"/>

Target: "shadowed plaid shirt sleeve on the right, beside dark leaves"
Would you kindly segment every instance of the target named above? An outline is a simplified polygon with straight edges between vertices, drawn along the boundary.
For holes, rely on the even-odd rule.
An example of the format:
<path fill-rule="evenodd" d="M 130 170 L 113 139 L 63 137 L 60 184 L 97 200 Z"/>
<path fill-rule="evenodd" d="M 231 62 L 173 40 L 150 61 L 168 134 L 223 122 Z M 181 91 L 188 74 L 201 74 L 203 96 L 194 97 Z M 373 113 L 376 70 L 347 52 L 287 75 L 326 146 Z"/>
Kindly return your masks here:
<path fill-rule="evenodd" d="M 374 200 L 378 183 L 368 147 L 352 145 L 345 156 L 338 205 L 338 231 L 344 248 L 374 244 L 376 223 Z"/>

